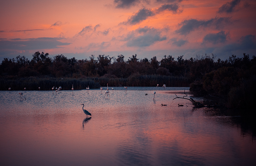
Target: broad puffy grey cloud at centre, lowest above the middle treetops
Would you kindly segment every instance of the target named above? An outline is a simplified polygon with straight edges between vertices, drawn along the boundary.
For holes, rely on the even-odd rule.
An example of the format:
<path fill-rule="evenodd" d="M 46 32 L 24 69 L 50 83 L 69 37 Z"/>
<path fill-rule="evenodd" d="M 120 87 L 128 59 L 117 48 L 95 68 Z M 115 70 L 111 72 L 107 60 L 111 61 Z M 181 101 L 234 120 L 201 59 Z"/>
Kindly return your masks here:
<path fill-rule="evenodd" d="M 161 36 L 159 29 L 144 27 L 129 33 L 124 41 L 127 41 L 128 47 L 146 47 L 163 40 L 166 37 Z"/>

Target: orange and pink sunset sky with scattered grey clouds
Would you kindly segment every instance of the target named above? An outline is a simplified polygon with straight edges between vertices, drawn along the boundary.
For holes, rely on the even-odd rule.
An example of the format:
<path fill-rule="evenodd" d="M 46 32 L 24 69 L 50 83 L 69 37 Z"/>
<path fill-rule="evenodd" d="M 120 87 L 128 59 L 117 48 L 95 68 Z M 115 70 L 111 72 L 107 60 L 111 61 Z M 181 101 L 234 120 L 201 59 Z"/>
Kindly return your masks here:
<path fill-rule="evenodd" d="M 37 51 L 77 60 L 99 54 L 256 56 L 255 0 L 8 0 L 0 5 L 0 62 Z"/>

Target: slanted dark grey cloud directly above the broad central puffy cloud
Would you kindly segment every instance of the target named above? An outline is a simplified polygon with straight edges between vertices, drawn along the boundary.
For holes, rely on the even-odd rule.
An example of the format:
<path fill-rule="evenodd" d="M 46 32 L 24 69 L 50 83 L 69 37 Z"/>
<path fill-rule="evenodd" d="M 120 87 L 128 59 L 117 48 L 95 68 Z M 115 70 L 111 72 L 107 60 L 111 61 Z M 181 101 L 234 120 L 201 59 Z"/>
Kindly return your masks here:
<path fill-rule="evenodd" d="M 152 10 L 143 8 L 139 10 L 135 15 L 131 16 L 131 18 L 129 18 L 127 22 L 134 25 L 154 15 L 155 13 Z"/>

